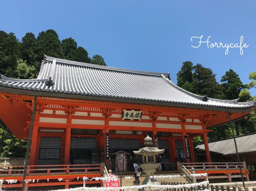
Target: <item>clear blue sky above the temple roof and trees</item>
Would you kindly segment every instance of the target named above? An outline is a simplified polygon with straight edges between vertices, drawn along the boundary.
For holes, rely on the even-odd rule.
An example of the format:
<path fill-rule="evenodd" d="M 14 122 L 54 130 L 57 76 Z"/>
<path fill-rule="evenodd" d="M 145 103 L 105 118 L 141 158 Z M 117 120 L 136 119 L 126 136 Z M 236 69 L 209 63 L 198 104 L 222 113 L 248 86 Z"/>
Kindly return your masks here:
<path fill-rule="evenodd" d="M 256 1 L 5 1 L 0 0 L 0 30 L 21 39 L 54 29 L 59 39 L 72 37 L 89 56 L 101 55 L 108 66 L 176 74 L 182 62 L 202 64 L 217 74 L 229 69 L 243 83 L 255 71 Z M 238 43 L 243 48 L 198 46 Z M 210 43 L 209 43 L 210 45 Z M 243 45 L 243 44 L 242 44 Z M 219 46 L 219 45 L 218 45 Z M 256 90 L 251 90 L 255 95 Z"/>

